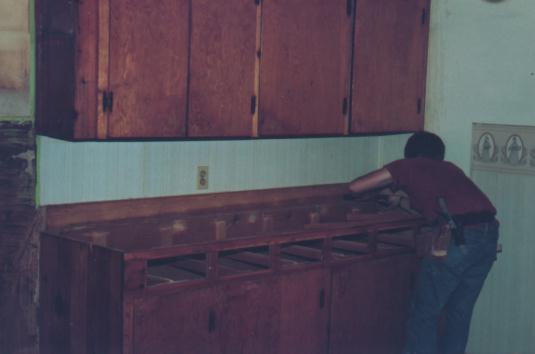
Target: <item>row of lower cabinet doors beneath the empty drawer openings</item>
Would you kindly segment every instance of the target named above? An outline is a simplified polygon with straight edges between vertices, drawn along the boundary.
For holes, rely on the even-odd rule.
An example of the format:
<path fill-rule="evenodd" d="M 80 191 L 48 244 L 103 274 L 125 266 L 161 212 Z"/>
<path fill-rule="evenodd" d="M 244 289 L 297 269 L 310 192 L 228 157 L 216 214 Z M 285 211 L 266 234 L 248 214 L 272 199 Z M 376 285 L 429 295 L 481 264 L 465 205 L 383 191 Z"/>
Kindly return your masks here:
<path fill-rule="evenodd" d="M 134 353 L 399 353 L 414 269 L 401 254 L 146 296 Z"/>

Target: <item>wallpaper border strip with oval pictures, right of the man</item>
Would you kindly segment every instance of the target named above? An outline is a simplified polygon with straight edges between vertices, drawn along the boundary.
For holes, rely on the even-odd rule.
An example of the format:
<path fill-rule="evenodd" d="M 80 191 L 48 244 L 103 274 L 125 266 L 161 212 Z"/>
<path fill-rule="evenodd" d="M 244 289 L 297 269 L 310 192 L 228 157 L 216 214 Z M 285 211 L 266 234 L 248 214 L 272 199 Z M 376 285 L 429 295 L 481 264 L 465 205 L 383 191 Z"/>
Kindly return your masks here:
<path fill-rule="evenodd" d="M 472 170 L 535 175 L 535 126 L 474 123 Z"/>

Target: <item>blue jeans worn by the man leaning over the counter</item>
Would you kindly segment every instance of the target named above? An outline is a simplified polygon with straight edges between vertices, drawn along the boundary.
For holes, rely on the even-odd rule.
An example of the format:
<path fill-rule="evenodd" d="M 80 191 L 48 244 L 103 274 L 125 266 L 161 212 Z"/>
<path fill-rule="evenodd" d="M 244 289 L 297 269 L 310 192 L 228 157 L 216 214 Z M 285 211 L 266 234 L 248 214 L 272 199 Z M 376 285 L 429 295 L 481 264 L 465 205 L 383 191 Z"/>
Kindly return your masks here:
<path fill-rule="evenodd" d="M 407 323 L 406 353 L 462 354 L 472 310 L 496 260 L 498 222 L 467 226 L 465 245 L 452 241 L 445 260 L 425 258 L 414 289 Z M 445 326 L 438 338 L 438 319 Z"/>

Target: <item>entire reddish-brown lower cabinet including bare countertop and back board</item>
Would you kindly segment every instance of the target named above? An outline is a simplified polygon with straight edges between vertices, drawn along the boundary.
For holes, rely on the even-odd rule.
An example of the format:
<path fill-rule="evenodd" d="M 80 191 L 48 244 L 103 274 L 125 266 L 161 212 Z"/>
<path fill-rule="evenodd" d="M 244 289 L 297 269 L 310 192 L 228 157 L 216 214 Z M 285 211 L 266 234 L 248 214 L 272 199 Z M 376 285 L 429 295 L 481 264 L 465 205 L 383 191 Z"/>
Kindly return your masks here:
<path fill-rule="evenodd" d="M 68 225 L 41 237 L 40 352 L 397 352 L 421 219 L 319 190 L 51 208 Z"/>

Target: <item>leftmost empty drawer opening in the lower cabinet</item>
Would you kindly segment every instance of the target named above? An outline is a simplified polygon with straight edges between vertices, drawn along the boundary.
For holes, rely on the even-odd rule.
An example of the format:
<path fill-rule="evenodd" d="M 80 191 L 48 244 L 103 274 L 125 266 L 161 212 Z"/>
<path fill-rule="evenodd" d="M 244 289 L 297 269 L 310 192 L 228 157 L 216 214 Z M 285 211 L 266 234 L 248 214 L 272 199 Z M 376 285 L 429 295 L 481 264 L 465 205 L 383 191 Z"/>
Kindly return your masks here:
<path fill-rule="evenodd" d="M 206 279 L 206 264 L 204 254 L 150 260 L 147 264 L 147 282 L 153 286 Z"/>

